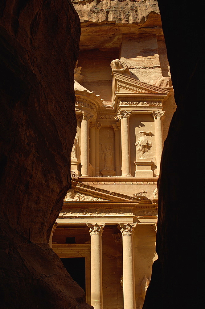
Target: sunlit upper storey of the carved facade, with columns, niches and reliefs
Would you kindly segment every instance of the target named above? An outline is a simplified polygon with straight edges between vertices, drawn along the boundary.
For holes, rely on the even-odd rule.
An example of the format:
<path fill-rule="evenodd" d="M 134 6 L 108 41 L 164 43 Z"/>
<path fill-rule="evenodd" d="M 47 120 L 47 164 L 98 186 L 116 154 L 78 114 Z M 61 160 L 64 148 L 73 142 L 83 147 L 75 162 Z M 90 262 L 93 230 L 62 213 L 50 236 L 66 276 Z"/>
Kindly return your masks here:
<path fill-rule="evenodd" d="M 77 134 L 71 169 L 82 177 L 157 177 L 163 149 L 163 103 L 171 87 L 130 78 L 126 68 L 116 69 L 116 61 L 120 60 L 111 62 L 112 106 L 102 104 L 99 95 L 75 80 Z"/>

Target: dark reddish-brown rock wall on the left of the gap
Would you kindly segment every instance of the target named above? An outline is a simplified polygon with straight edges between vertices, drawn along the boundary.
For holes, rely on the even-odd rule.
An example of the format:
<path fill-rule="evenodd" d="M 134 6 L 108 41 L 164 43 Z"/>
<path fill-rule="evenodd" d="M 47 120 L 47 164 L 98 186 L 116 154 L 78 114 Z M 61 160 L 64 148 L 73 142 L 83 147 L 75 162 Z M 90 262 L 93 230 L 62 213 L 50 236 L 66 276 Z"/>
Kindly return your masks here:
<path fill-rule="evenodd" d="M 0 23 L 1 308 L 87 308 L 48 245 L 71 180 L 79 17 L 67 0 L 13 0 Z"/>

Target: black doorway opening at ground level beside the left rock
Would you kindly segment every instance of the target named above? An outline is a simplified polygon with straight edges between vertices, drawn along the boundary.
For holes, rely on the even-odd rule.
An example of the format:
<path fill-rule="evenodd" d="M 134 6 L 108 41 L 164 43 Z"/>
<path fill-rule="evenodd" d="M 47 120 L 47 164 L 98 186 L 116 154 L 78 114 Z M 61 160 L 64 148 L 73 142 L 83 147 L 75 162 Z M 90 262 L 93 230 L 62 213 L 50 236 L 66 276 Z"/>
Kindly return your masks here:
<path fill-rule="evenodd" d="M 85 291 L 85 257 L 62 257 L 61 261 L 73 280 Z"/>

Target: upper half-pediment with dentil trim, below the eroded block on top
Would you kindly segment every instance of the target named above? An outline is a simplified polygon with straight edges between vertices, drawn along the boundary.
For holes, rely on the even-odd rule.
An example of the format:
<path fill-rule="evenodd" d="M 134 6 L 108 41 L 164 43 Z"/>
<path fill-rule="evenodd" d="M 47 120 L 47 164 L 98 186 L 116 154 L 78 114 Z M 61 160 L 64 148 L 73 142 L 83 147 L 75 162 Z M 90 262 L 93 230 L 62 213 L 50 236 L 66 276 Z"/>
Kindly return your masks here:
<path fill-rule="evenodd" d="M 117 111 L 120 101 L 154 101 L 161 103 L 169 96 L 169 90 L 137 81 L 134 78 L 113 72 L 112 104 Z"/>

